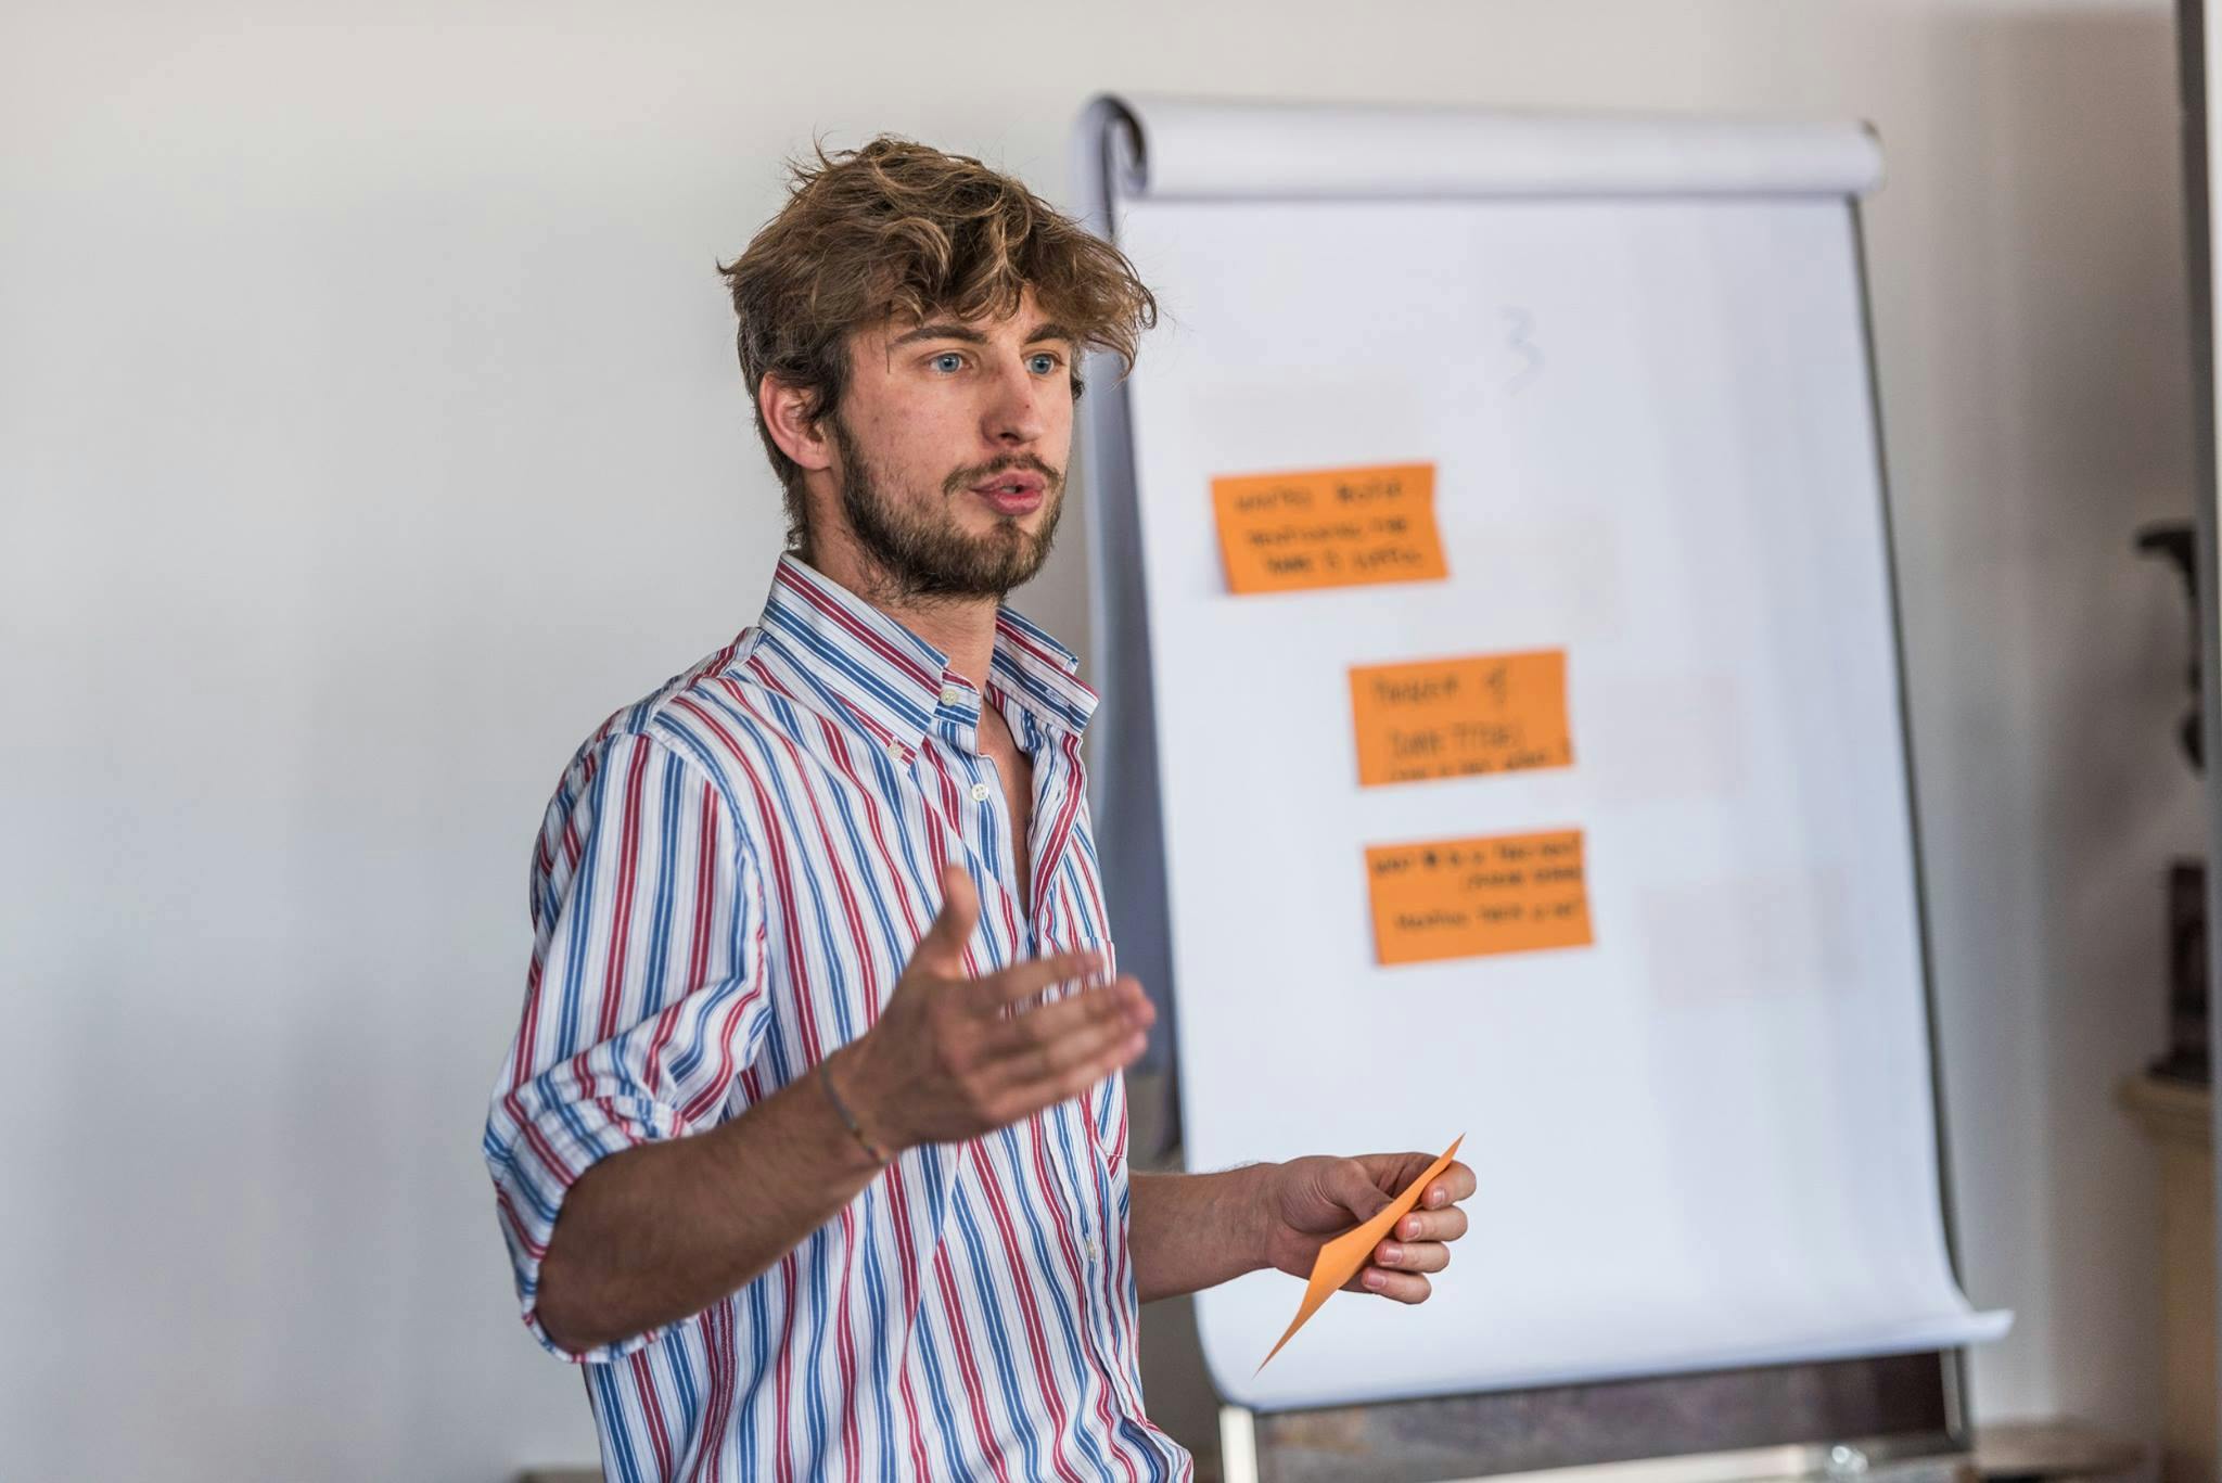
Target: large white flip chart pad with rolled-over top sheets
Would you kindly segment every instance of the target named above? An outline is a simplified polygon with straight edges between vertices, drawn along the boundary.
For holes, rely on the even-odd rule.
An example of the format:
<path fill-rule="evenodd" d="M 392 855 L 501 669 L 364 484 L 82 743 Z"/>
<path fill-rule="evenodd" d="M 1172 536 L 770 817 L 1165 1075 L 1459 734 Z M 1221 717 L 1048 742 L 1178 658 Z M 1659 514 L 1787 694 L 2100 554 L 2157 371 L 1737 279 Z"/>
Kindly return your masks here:
<path fill-rule="evenodd" d="M 1078 178 L 1178 305 L 1131 376 L 1091 362 L 1080 458 L 1091 736 L 1118 758 L 1095 845 L 1122 961 L 1178 1021 L 1184 1154 L 1518 1129 L 1460 1154 L 1489 1254 L 1424 1307 L 1327 1303 L 1253 1374 L 1289 1285 L 1198 1294 L 1220 1394 L 1353 1405 L 1995 1336 L 1940 1201 L 1851 200 L 1873 136 L 1095 118 Z M 1247 522 L 1291 516 L 1207 498 L 1271 478 L 1315 514 L 1338 471 L 1422 462 L 1440 578 L 1253 574 L 1298 543 L 1244 549 Z M 1360 780 L 1353 669 L 1549 649 L 1569 765 Z M 1587 945 L 1513 949 L 1551 883 L 1460 885 L 1440 854 L 1362 883 L 1369 849 L 1551 829 L 1580 829 L 1582 880 L 1547 925 Z M 1518 927 L 1491 918 L 1511 903 Z"/>

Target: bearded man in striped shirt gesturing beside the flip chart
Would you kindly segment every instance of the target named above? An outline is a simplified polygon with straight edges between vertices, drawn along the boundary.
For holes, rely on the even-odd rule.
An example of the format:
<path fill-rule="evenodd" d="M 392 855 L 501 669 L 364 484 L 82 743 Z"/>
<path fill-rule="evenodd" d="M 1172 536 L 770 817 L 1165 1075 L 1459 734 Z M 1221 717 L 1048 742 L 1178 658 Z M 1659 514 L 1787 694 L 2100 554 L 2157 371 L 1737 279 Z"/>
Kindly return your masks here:
<path fill-rule="evenodd" d="M 618 1479 L 1187 1479 L 1135 1305 L 1307 1276 L 1431 1158 L 1127 1170 L 1151 1007 L 1107 940 L 1095 696 L 1000 600 L 1062 511 L 1078 354 L 1131 365 L 1155 302 L 1020 182 L 884 138 L 798 169 L 724 273 L 791 549 L 549 805 L 484 1143 L 524 1321 Z M 1451 1165 L 1351 1285 L 1427 1298 L 1471 1192 Z"/>

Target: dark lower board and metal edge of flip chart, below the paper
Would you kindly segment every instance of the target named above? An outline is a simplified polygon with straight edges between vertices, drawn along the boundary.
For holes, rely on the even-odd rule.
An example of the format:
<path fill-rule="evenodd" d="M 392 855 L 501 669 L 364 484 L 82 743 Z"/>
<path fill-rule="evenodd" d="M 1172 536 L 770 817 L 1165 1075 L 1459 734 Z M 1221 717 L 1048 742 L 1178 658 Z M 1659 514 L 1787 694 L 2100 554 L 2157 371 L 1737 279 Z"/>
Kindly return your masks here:
<path fill-rule="evenodd" d="M 1958 1476 L 1958 1352 L 1302 1412 L 1220 1407 L 1227 1483 Z M 1567 1472 L 1575 1470 L 1575 1472 Z"/>

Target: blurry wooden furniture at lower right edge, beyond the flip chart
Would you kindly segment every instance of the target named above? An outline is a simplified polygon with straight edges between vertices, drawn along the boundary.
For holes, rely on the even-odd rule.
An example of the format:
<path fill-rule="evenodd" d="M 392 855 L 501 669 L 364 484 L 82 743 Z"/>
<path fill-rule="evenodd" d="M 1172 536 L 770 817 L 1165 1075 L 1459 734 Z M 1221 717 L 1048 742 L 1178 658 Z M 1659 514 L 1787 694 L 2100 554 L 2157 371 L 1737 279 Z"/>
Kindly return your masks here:
<path fill-rule="evenodd" d="M 2122 1083 L 2122 1105 L 2160 1156 L 2160 1296 L 2166 1354 L 2162 1483 L 2215 1472 L 2213 1089 L 2166 1076 Z"/>

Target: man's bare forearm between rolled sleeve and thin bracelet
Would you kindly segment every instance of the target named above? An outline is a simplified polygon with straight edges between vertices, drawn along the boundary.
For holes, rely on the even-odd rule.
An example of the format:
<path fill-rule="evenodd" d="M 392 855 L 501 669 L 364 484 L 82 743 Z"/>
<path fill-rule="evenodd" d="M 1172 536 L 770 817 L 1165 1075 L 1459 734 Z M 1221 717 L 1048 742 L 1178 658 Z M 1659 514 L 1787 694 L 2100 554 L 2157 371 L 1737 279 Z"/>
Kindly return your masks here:
<path fill-rule="evenodd" d="M 835 1083 L 847 1052 L 833 1054 Z M 540 1323 L 573 1354 L 693 1316 L 833 1218 L 880 1172 L 802 1076 L 742 1116 L 587 1170 L 540 1263 Z"/>

